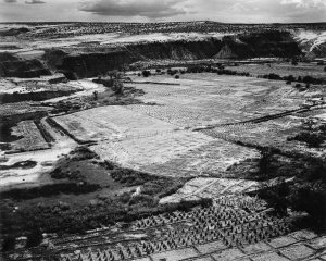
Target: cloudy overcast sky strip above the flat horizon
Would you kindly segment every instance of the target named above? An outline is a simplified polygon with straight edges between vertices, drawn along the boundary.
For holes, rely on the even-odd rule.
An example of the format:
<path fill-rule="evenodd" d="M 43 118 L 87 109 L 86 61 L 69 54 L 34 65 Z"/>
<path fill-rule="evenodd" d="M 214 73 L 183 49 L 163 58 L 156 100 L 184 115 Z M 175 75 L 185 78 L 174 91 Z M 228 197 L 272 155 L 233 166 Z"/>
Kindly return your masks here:
<path fill-rule="evenodd" d="M 326 0 L 0 0 L 0 22 L 325 22 Z"/>

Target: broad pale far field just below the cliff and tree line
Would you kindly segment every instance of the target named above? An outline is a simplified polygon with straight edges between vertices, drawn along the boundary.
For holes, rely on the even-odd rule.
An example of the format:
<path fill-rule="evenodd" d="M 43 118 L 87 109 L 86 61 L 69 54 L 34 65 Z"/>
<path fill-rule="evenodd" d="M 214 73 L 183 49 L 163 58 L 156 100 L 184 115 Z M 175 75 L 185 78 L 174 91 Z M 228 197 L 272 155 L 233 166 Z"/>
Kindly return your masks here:
<path fill-rule="evenodd" d="M 296 110 L 305 97 L 313 96 L 313 91 L 299 94 L 283 82 L 251 77 L 209 73 L 185 74 L 180 79 L 166 77 L 150 77 L 150 80 L 156 80 L 160 85 L 137 85 L 146 92 L 140 98 L 142 101 L 159 105 L 134 104 L 128 109 L 178 126 L 196 127 Z M 171 85 L 172 80 L 179 85 Z"/>

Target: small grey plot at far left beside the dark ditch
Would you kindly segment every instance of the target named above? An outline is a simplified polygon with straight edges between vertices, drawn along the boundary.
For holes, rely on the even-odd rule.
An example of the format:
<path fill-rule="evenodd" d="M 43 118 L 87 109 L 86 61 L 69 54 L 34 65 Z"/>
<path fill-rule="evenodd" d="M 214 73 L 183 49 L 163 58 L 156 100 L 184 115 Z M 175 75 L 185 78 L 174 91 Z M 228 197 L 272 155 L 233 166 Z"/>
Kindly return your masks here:
<path fill-rule="evenodd" d="M 13 141 L 13 151 L 32 151 L 48 149 L 49 145 L 40 134 L 34 121 L 23 121 L 12 128 L 12 134 L 22 137 Z"/>

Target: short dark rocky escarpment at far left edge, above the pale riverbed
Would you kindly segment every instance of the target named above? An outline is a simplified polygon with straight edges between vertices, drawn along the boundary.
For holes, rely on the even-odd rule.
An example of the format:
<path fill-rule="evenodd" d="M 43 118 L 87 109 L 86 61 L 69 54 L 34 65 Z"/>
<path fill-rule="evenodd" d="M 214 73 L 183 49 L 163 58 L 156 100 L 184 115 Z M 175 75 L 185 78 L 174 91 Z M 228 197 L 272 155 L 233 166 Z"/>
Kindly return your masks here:
<path fill-rule="evenodd" d="M 41 75 L 51 75 L 51 72 L 39 60 L 0 53 L 0 77 L 33 78 Z"/>

